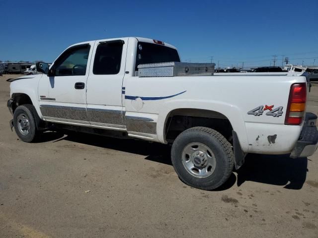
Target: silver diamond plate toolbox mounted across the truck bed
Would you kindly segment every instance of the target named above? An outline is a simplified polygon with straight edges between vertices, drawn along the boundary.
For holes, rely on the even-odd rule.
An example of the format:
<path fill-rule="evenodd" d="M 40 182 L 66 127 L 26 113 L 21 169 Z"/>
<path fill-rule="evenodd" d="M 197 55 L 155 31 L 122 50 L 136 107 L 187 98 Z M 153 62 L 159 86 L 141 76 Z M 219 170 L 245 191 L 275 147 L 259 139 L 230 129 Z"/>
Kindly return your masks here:
<path fill-rule="evenodd" d="M 215 63 L 164 62 L 138 65 L 139 77 L 213 75 Z"/>

